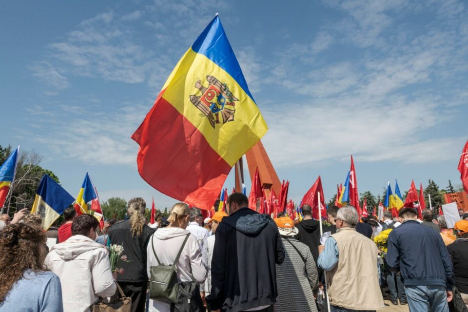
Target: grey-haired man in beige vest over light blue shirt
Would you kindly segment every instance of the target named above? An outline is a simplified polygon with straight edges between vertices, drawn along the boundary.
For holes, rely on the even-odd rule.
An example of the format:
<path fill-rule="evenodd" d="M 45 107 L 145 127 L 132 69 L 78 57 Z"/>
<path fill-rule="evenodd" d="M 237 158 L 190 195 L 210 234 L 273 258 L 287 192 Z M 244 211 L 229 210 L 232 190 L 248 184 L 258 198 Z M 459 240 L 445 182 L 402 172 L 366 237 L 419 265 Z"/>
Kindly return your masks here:
<path fill-rule="evenodd" d="M 318 266 L 327 273 L 331 312 L 382 310 L 375 243 L 356 232 L 354 207 L 338 210 L 335 222 L 337 231 L 319 246 L 318 257 Z"/>

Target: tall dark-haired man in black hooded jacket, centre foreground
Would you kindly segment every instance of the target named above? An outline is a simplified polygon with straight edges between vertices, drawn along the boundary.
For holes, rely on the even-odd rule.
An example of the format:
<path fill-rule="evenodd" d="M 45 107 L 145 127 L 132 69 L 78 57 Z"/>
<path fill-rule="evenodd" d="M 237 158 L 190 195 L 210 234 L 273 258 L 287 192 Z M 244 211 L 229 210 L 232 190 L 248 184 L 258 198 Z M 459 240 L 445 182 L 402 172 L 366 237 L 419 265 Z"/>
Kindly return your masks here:
<path fill-rule="evenodd" d="M 212 311 L 273 311 L 275 264 L 283 263 L 283 243 L 272 218 L 249 209 L 248 202 L 242 193 L 231 194 L 229 216 L 216 230 L 211 294 L 206 298 Z"/>

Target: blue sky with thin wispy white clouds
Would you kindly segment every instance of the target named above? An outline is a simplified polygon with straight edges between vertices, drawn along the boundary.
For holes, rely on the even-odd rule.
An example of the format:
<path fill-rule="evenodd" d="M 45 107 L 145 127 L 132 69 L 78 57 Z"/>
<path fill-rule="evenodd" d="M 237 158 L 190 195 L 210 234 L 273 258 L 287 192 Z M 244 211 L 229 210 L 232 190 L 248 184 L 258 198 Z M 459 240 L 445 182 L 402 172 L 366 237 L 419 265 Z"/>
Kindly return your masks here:
<path fill-rule="evenodd" d="M 360 192 L 460 183 L 468 11 L 456 0 L 4 1 L 0 144 L 36 150 L 74 196 L 88 171 L 101 200 L 171 206 L 138 175 L 130 136 L 215 13 L 292 199 L 321 175 L 328 200 L 351 154 Z"/>

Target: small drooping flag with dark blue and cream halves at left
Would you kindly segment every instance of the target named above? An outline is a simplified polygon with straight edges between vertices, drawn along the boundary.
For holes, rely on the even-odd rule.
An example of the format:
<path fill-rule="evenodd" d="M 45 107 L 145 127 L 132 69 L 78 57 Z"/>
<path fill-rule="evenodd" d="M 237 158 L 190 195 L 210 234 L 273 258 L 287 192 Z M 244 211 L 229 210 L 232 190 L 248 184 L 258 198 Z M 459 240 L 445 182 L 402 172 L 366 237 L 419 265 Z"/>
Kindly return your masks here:
<path fill-rule="evenodd" d="M 65 208 L 75 201 L 72 195 L 68 194 L 50 176 L 44 175 L 39 182 L 31 213 L 42 216 L 42 228 L 47 230 L 63 214 Z"/>

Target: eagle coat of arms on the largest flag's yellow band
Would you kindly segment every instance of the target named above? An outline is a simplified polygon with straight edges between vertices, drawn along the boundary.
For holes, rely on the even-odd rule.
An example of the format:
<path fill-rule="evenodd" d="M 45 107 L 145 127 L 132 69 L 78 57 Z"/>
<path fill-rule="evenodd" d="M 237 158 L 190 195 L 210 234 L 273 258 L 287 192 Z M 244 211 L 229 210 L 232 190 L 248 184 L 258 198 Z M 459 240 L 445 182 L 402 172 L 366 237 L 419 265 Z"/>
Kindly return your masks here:
<path fill-rule="evenodd" d="M 213 128 L 216 123 L 224 124 L 234 120 L 235 98 L 226 83 L 221 83 L 213 76 L 207 76 L 208 88 L 201 80 L 195 82 L 195 88 L 201 91 L 201 96 L 190 96 L 190 101 L 205 115 Z"/>

